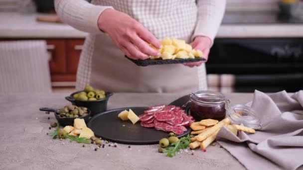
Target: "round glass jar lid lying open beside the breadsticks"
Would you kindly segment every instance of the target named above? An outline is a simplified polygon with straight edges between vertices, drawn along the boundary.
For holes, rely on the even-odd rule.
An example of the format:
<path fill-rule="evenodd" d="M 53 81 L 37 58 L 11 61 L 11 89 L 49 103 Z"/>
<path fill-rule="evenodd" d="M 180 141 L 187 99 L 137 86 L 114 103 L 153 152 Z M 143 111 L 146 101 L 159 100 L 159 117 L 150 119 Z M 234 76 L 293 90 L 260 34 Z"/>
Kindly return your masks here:
<path fill-rule="evenodd" d="M 252 129 L 261 129 L 261 121 L 254 110 L 244 104 L 237 104 L 227 109 L 227 116 L 232 124 L 241 124 Z"/>

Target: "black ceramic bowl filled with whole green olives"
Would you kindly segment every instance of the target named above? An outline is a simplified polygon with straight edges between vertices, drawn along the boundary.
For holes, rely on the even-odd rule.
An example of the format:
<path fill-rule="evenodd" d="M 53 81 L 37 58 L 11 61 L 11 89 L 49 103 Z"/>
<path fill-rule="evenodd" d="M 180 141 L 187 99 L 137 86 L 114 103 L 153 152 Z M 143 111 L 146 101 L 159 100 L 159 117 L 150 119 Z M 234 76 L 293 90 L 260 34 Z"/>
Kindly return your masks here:
<path fill-rule="evenodd" d="M 112 92 L 105 92 L 105 98 L 101 100 L 77 100 L 74 99 L 73 95 L 76 93 L 79 93 L 81 91 L 76 91 L 71 93 L 69 96 L 66 96 L 65 99 L 70 101 L 73 105 L 76 105 L 78 107 L 87 107 L 91 110 L 92 115 L 95 115 L 96 113 L 104 112 L 107 109 L 107 101 L 110 98 L 110 96 L 113 95 Z"/>

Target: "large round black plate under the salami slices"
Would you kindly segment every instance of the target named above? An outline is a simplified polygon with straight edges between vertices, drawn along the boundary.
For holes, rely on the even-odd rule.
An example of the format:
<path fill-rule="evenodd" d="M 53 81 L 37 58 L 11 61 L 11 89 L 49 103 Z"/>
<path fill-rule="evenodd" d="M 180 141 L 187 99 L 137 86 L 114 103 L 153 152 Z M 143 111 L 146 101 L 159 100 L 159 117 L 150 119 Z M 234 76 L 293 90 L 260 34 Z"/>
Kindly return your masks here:
<path fill-rule="evenodd" d="M 99 113 L 89 120 L 87 126 L 93 130 L 97 137 L 124 144 L 157 144 L 161 138 L 168 137 L 167 132 L 142 127 L 140 122 L 133 124 L 130 120 L 120 120 L 118 114 L 129 109 L 132 109 L 139 116 L 148 107 L 127 107 Z M 190 128 L 186 128 L 187 131 L 177 137 L 185 136 L 191 131 Z"/>

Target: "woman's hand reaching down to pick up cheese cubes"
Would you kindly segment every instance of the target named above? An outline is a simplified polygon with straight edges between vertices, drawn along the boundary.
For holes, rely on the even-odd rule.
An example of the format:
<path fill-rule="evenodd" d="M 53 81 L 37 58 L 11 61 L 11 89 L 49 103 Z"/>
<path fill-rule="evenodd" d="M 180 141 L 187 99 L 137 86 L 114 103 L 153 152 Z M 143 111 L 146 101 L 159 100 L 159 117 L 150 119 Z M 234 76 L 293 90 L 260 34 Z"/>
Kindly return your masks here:
<path fill-rule="evenodd" d="M 142 24 L 126 13 L 114 9 L 106 9 L 98 19 L 99 28 L 109 34 L 116 45 L 130 58 L 147 59 L 160 55 L 148 43 L 161 48 L 160 41 Z"/>

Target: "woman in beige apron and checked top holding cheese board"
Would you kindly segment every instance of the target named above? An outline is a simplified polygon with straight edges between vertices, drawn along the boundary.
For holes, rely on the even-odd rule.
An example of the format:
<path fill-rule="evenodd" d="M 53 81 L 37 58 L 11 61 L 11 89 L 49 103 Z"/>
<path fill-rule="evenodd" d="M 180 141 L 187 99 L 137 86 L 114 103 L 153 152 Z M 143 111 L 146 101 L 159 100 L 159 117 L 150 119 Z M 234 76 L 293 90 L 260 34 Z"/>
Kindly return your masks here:
<path fill-rule="evenodd" d="M 182 93 L 207 89 L 201 62 L 138 67 L 124 55 L 133 59 L 158 55 L 146 42 L 160 48 L 159 40 L 173 37 L 191 43 L 207 59 L 225 3 L 55 0 L 56 11 L 64 22 L 90 33 L 80 57 L 76 88 L 92 85 L 109 91 Z"/>

